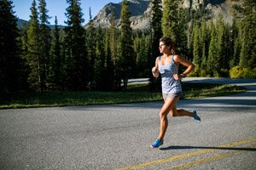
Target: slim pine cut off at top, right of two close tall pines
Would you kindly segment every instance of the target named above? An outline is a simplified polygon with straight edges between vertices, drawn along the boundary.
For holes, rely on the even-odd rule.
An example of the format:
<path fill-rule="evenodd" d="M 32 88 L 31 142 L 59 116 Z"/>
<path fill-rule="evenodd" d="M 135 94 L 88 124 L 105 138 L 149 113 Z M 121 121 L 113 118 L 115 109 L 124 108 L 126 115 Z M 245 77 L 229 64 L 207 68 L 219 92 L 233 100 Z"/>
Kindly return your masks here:
<path fill-rule="evenodd" d="M 45 0 L 39 0 L 39 22 L 40 22 L 40 58 L 42 65 L 42 77 L 41 82 L 44 88 L 48 88 L 49 86 L 49 52 L 51 45 L 51 31 L 49 26 L 49 16 L 47 15 L 48 9 L 46 8 Z"/>

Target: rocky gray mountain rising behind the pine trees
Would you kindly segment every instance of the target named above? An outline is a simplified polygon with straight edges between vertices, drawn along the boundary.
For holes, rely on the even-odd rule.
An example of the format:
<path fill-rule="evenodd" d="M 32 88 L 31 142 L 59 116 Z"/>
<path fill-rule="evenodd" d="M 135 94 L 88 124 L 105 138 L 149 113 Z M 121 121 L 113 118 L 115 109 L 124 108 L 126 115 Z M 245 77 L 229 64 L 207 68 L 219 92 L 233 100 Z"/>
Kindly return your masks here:
<path fill-rule="evenodd" d="M 163 0 L 162 0 L 163 1 Z M 207 18 L 218 19 L 219 14 L 223 14 L 226 23 L 232 23 L 231 9 L 236 5 L 241 5 L 243 0 L 183 0 L 183 8 L 196 10 L 205 8 Z M 150 23 L 152 4 L 150 0 L 128 0 L 131 12 L 132 29 L 147 29 Z M 116 18 L 117 26 L 120 26 L 121 3 L 108 3 L 93 19 L 94 26 L 110 26 L 111 11 Z M 85 25 L 86 28 L 88 26 Z"/>

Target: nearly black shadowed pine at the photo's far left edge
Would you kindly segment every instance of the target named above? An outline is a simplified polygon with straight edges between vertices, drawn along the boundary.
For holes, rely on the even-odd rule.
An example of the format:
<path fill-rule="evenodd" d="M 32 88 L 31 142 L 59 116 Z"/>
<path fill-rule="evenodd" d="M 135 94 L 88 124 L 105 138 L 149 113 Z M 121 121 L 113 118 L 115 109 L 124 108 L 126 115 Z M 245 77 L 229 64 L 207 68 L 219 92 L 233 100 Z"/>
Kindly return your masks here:
<path fill-rule="evenodd" d="M 0 94 L 13 94 L 25 88 L 22 81 L 21 43 L 12 2 L 0 1 Z M 4 94 L 4 95 L 2 95 Z"/>

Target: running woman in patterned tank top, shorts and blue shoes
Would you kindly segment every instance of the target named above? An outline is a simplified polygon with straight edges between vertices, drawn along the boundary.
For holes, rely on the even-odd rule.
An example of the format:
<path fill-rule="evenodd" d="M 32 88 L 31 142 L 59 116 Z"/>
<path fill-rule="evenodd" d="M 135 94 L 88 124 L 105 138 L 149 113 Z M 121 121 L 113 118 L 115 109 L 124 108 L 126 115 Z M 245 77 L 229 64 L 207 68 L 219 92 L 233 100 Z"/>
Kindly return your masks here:
<path fill-rule="evenodd" d="M 182 87 L 180 80 L 195 69 L 195 65 L 189 60 L 175 54 L 174 42 L 170 37 L 160 38 L 160 55 L 155 59 L 155 66 L 152 68 L 154 77 L 161 75 L 162 95 L 164 105 L 160 110 L 160 134 L 158 138 L 151 144 L 151 148 L 158 148 L 164 144 L 164 136 L 168 127 L 168 113 L 171 116 L 191 116 L 196 122 L 201 122 L 201 118 L 196 111 L 177 110 L 177 101 L 182 95 Z M 186 70 L 182 74 L 178 74 L 178 66 L 184 65 Z"/>

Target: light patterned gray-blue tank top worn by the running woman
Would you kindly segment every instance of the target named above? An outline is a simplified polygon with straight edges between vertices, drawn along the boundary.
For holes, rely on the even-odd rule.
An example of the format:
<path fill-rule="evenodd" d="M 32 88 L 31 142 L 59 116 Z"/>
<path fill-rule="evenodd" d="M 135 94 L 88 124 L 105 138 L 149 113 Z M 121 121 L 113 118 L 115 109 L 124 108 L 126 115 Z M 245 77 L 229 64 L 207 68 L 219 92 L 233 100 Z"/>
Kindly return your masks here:
<path fill-rule="evenodd" d="M 159 56 L 158 68 L 162 77 L 162 92 L 164 94 L 180 93 L 182 92 L 181 82 L 175 80 L 173 75 L 178 73 L 178 66 L 173 60 L 166 65 L 162 65 L 160 62 L 161 56 Z"/>

